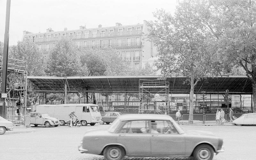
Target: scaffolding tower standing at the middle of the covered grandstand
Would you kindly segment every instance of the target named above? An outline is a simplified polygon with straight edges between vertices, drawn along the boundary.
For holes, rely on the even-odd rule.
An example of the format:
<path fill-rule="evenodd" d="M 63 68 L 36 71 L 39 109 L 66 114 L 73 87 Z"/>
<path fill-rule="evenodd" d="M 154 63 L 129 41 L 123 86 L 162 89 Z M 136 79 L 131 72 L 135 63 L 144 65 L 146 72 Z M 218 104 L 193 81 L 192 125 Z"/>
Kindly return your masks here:
<path fill-rule="evenodd" d="M 139 100 L 139 114 L 143 114 L 143 112 L 146 112 L 146 114 L 150 112 L 158 114 L 169 113 L 169 82 L 164 79 L 140 79 Z"/>

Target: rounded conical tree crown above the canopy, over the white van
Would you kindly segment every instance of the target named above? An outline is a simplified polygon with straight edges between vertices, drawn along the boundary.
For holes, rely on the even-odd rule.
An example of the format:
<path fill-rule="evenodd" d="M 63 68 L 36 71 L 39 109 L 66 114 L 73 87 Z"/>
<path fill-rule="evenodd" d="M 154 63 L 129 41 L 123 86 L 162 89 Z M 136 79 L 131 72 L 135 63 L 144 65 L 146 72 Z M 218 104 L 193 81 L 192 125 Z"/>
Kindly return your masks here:
<path fill-rule="evenodd" d="M 81 61 L 74 42 L 60 39 L 49 53 L 45 72 L 49 76 L 76 76 L 80 71 Z"/>

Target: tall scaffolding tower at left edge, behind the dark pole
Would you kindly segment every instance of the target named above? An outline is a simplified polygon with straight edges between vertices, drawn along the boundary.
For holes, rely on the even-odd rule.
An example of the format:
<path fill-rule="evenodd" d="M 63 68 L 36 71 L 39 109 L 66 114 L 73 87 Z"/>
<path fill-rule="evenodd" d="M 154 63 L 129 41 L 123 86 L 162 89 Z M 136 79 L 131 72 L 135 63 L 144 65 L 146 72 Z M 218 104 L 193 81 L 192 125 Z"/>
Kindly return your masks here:
<path fill-rule="evenodd" d="M 1 63 L 1 80 L 0 89 L 2 88 L 3 74 L 3 57 L 0 58 Z M 7 115 L 14 115 L 15 108 L 19 108 L 20 113 L 26 115 L 26 83 L 27 83 L 27 62 L 8 58 L 7 75 L 6 75 L 6 107 Z M 24 82 L 25 81 L 25 82 Z M 24 86 L 25 85 L 25 86 Z M 0 91 L 1 92 L 1 91 Z M 18 94 L 18 95 L 17 95 Z M 16 101 L 20 100 L 20 106 L 16 105 Z M 19 103 L 18 103 L 19 104 Z M 9 111 L 11 113 L 9 114 Z M 18 114 L 18 113 L 17 113 Z"/>

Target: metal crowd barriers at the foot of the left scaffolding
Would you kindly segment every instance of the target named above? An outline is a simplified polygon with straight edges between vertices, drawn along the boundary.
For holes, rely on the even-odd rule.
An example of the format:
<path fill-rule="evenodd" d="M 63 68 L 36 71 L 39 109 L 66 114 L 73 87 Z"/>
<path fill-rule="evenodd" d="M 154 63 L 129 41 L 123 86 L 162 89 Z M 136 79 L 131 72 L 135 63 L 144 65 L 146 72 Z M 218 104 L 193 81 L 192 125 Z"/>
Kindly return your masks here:
<path fill-rule="evenodd" d="M 29 116 L 7 115 L 7 120 L 11 121 L 15 126 L 30 126 Z"/>

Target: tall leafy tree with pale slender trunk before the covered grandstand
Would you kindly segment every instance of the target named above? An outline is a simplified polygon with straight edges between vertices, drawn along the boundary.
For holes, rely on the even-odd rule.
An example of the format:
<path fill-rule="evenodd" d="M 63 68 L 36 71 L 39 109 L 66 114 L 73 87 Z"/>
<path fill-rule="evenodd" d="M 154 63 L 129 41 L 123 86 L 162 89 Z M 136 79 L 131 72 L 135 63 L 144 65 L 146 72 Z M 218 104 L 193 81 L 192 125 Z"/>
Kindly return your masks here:
<path fill-rule="evenodd" d="M 181 1 L 174 15 L 157 10 L 156 20 L 148 23 L 151 27 L 148 38 L 154 41 L 159 52 L 157 68 L 164 77 L 178 74 L 190 81 L 189 123 L 193 123 L 194 87 L 212 71 L 213 55 L 208 54 L 205 44 L 206 29 L 198 24 L 195 16 L 200 5 L 199 1 Z"/>

